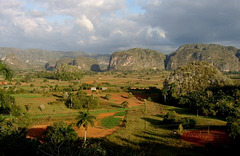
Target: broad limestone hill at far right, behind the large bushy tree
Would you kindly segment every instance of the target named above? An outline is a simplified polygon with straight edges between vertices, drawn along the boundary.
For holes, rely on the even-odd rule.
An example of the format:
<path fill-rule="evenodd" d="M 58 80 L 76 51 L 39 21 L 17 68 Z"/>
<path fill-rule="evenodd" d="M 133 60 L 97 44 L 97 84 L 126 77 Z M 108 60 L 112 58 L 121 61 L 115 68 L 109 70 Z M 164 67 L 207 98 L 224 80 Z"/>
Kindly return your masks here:
<path fill-rule="evenodd" d="M 188 44 L 167 56 L 166 69 L 174 70 L 189 62 L 206 61 L 224 72 L 239 71 L 239 56 L 238 49 L 232 46 Z"/>

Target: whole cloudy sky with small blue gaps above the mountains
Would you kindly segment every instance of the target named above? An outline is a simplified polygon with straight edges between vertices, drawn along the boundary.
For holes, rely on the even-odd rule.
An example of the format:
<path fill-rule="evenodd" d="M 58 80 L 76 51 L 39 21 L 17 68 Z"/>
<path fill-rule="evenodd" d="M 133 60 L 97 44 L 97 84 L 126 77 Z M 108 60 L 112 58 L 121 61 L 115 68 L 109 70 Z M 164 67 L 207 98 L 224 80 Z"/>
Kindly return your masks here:
<path fill-rule="evenodd" d="M 107 54 L 240 48 L 240 0 L 0 0 L 0 47 Z"/>

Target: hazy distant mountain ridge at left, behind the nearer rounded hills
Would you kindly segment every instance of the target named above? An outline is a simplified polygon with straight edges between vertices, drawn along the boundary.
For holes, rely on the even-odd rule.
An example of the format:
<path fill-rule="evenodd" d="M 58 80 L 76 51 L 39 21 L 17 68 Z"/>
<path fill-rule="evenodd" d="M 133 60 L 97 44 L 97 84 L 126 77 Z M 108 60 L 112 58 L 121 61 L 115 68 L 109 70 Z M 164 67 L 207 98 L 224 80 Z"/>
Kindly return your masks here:
<path fill-rule="evenodd" d="M 63 52 L 63 51 L 48 51 L 48 50 L 42 50 L 42 49 L 22 50 L 18 48 L 0 47 L 0 59 L 3 60 L 6 57 L 9 58 L 9 56 L 15 56 L 15 58 L 18 58 L 19 61 L 12 61 L 11 63 L 7 61 L 5 63 L 8 64 L 13 69 L 17 69 L 17 70 L 43 68 L 44 66 L 50 68 L 54 66 L 53 64 L 55 64 L 56 61 L 58 61 L 61 58 L 68 57 L 73 59 L 79 56 L 85 56 L 85 57 L 99 60 L 100 64 L 101 65 L 105 64 L 105 68 L 107 68 L 107 65 L 109 63 L 109 58 L 110 58 L 110 55 L 108 54 L 103 54 L 103 55 L 89 54 L 89 53 L 80 52 L 80 51 Z M 12 58 L 12 60 L 14 59 Z M 20 66 L 19 66 L 19 62 L 21 62 Z M 19 68 L 16 68 L 18 66 Z"/>

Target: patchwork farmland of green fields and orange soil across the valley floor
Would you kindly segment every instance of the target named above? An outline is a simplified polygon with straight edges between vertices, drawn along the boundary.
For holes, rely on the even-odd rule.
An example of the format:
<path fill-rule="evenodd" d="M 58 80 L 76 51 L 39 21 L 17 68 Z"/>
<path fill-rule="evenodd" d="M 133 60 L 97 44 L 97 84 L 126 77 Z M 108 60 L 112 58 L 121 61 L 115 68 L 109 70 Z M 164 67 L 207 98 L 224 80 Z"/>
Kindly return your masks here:
<path fill-rule="evenodd" d="M 18 75 L 12 82 L 2 80 L 4 83 L 1 87 L 10 90 L 15 86 L 16 90 L 21 91 L 11 96 L 27 117 L 28 138 L 41 138 L 47 126 L 64 121 L 72 124 L 80 140 L 83 140 L 84 129 L 76 127 L 76 117 L 79 111 L 87 109 L 67 107 L 62 100 L 67 92 L 66 88 L 71 88 L 70 92 L 76 93 L 82 84 L 95 87 L 106 85 L 107 90 L 98 87 L 95 92 L 90 89 L 83 90 L 88 96 L 93 96 L 99 101 L 94 109 L 89 110 L 96 117 L 94 125 L 89 126 L 87 130 L 90 142 L 94 142 L 95 139 L 106 149 L 120 147 L 123 150 L 119 150 L 119 154 L 129 150 L 141 155 L 206 155 L 214 153 L 216 148 L 221 149 L 219 152 L 228 151 L 229 142 L 192 142 L 193 139 L 184 139 L 179 135 L 178 127 L 163 123 L 167 112 L 175 111 L 177 117 L 189 117 L 197 122 L 195 128 L 183 129 L 181 134 L 184 134 L 185 138 L 189 131 L 204 133 L 208 128 L 210 134 L 219 130 L 224 133 L 222 136 L 226 137 L 226 121 L 223 118 L 197 116 L 189 108 L 160 102 L 160 90 L 168 75 L 169 72 L 165 71 L 146 75 L 103 72 L 84 75 L 81 80 L 75 81 L 32 78 L 29 82 L 17 84 L 21 80 L 21 76 Z M 106 94 L 110 94 L 109 98 L 106 98 Z M 122 105 L 124 101 L 129 103 L 127 107 Z M 211 146 L 207 146 L 208 144 Z"/>

